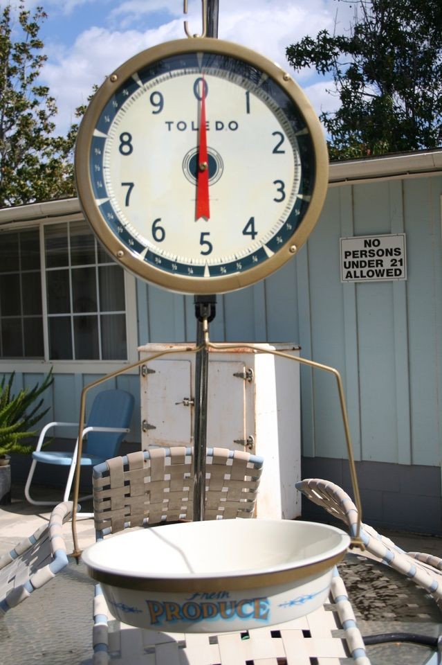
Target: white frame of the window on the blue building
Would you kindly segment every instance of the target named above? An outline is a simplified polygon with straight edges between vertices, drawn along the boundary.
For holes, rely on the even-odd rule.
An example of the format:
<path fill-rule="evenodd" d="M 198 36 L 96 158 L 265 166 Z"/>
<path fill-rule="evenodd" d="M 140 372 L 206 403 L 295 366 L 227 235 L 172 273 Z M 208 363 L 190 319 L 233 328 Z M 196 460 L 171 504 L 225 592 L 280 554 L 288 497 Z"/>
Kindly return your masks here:
<path fill-rule="evenodd" d="M 50 360 L 48 339 L 48 307 L 46 298 L 46 257 L 44 247 L 44 227 L 48 224 L 66 224 L 67 222 L 83 221 L 81 213 L 60 215 L 29 220 L 26 222 L 13 222 L 5 227 L 5 232 L 25 231 L 26 229 L 39 228 L 40 242 L 40 278 L 42 288 L 42 317 L 43 317 L 43 342 L 44 358 L 0 358 L 0 373 L 12 371 L 26 373 L 46 373 L 52 367 L 55 373 L 79 373 L 79 374 L 108 374 L 125 365 L 132 364 L 138 360 L 138 332 L 137 332 L 137 305 L 136 305 L 136 278 L 127 270 L 123 269 L 125 279 L 125 303 L 126 303 L 126 339 L 127 360 Z M 1 233 L 0 233 L 1 242 Z M 137 369 L 131 373 L 137 373 Z"/>

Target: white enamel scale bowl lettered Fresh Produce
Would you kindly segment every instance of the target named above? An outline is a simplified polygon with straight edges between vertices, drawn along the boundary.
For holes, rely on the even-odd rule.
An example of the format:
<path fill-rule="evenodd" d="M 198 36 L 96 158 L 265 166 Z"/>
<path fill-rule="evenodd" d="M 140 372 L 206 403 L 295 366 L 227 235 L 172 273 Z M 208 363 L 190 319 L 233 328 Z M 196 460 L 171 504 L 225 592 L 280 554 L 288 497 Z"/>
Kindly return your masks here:
<path fill-rule="evenodd" d="M 325 524 L 218 520 L 124 531 L 83 553 L 112 614 L 166 632 L 290 621 L 326 600 L 349 536 Z"/>

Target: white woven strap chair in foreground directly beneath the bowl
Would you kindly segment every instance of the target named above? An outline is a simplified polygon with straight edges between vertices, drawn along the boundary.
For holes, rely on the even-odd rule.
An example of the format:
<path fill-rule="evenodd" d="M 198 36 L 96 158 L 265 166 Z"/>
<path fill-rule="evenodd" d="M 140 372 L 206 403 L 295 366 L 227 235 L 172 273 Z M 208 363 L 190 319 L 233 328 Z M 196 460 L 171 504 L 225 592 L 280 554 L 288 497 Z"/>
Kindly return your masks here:
<path fill-rule="evenodd" d="M 94 598 L 93 665 L 370 665 L 335 569 L 329 603 L 277 626 L 221 634 L 133 628 L 109 613 L 100 586 Z"/>

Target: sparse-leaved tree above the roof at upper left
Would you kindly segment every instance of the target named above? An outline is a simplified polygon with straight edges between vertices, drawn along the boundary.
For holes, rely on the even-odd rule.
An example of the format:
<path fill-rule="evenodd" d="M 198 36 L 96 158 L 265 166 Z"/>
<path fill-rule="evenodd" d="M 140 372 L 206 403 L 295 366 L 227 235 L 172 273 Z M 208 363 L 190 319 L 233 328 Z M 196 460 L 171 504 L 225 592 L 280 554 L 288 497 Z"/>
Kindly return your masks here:
<path fill-rule="evenodd" d="M 46 13 L 7 4 L 0 14 L 0 208 L 75 195 L 76 127 L 55 135 L 55 99 L 39 75 L 47 56 L 39 39 Z"/>

